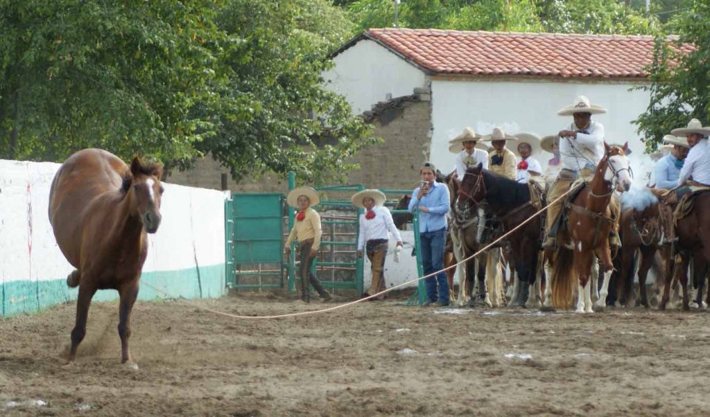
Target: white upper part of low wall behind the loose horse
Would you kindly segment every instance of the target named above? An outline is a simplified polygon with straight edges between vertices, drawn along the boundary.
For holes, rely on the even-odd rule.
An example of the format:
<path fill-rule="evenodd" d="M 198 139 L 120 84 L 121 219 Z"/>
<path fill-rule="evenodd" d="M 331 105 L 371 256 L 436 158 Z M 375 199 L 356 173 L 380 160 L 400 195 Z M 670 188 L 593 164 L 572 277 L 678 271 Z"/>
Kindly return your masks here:
<path fill-rule="evenodd" d="M 65 279 L 65 260 L 48 218 L 60 165 L 0 160 L 0 283 Z M 143 272 L 224 265 L 222 191 L 166 184 L 158 233 L 148 235 Z"/>

